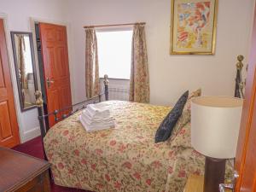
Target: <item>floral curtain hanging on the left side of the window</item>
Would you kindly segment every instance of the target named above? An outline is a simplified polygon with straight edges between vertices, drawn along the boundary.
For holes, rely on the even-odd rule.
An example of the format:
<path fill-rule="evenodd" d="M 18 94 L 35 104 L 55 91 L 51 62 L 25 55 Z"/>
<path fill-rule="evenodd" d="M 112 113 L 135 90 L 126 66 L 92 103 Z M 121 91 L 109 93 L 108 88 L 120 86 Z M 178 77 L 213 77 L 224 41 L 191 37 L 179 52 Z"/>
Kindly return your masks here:
<path fill-rule="evenodd" d="M 100 93 L 97 39 L 93 28 L 86 29 L 85 34 L 85 90 L 86 97 L 91 98 Z"/>

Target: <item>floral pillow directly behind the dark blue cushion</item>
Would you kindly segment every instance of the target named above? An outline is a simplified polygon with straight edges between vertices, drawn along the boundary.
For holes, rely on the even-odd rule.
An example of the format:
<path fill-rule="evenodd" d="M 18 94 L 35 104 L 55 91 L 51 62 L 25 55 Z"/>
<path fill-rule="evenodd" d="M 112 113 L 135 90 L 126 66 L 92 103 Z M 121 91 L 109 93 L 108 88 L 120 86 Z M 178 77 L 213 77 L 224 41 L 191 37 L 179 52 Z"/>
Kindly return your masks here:
<path fill-rule="evenodd" d="M 183 108 L 183 113 L 180 118 L 177 120 L 177 124 L 173 128 L 172 136 L 170 137 L 170 141 L 177 136 L 177 132 L 187 123 L 189 123 L 191 119 L 191 100 L 197 96 L 201 96 L 201 89 L 195 90 L 189 94 L 189 98 Z"/>

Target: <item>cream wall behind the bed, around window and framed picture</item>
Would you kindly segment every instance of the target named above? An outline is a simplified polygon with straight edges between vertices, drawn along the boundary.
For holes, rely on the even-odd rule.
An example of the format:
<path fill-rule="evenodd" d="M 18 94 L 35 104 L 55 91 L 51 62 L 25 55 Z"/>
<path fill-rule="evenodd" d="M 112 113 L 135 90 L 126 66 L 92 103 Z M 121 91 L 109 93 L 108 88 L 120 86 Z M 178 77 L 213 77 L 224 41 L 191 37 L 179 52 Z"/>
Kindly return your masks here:
<path fill-rule="evenodd" d="M 185 90 L 232 96 L 236 55 L 249 48 L 253 0 L 219 0 L 215 55 L 169 55 L 171 0 L 67 0 L 66 19 L 73 30 L 74 101 L 84 90 L 84 25 L 146 21 L 150 101 L 173 104 Z"/>

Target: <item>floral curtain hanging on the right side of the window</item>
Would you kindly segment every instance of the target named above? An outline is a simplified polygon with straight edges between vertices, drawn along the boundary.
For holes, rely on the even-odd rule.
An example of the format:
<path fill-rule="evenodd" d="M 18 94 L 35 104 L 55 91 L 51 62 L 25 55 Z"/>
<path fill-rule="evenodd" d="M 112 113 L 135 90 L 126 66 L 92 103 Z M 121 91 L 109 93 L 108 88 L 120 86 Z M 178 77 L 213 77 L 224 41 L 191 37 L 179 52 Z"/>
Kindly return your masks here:
<path fill-rule="evenodd" d="M 131 53 L 131 102 L 149 102 L 148 55 L 144 25 L 136 24 L 133 29 Z"/>

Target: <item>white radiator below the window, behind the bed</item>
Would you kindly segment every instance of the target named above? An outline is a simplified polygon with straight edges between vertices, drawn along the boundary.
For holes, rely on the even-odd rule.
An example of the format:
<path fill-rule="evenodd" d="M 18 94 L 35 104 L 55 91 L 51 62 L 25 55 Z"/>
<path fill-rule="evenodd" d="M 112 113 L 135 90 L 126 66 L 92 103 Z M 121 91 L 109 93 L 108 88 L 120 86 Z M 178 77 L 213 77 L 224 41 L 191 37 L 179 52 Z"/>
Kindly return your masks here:
<path fill-rule="evenodd" d="M 120 86 L 109 86 L 108 87 L 109 100 L 129 100 L 129 88 Z"/>

